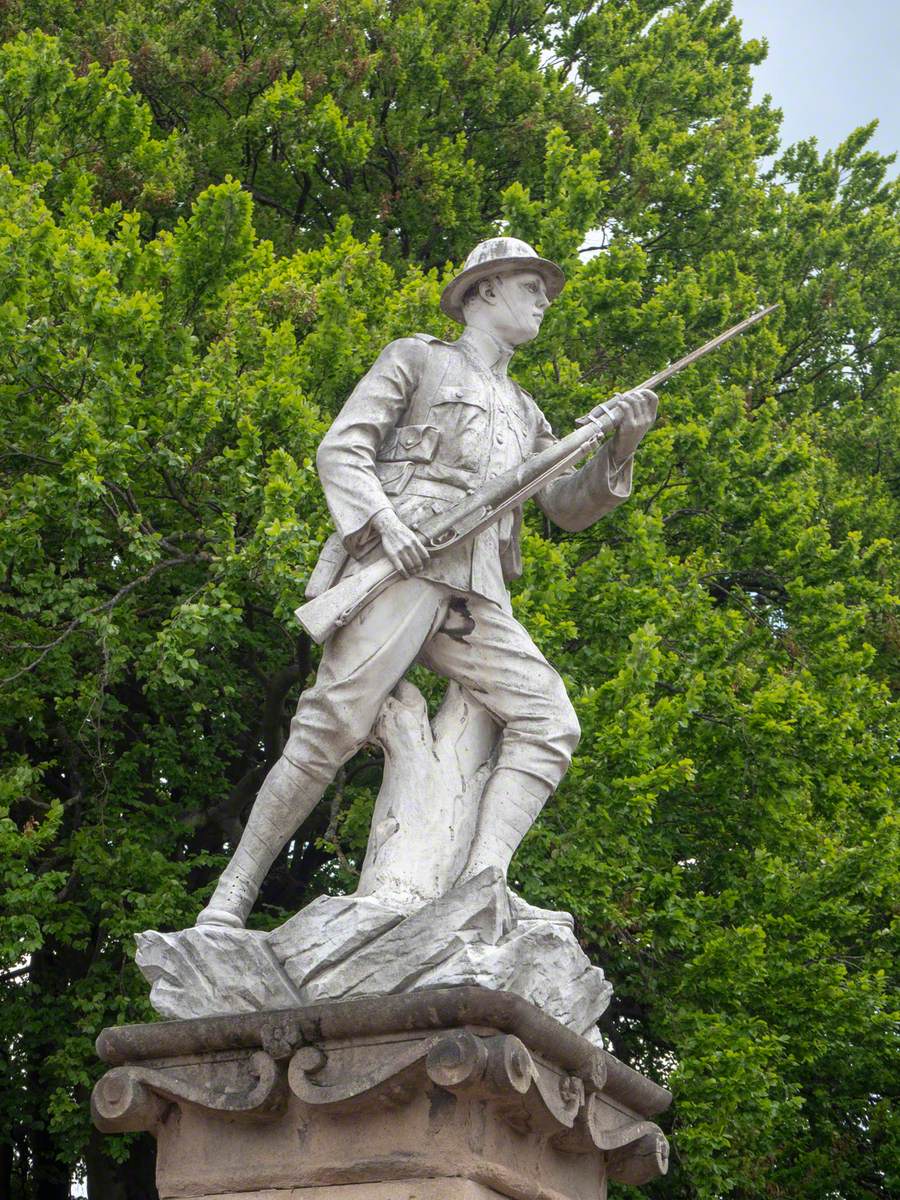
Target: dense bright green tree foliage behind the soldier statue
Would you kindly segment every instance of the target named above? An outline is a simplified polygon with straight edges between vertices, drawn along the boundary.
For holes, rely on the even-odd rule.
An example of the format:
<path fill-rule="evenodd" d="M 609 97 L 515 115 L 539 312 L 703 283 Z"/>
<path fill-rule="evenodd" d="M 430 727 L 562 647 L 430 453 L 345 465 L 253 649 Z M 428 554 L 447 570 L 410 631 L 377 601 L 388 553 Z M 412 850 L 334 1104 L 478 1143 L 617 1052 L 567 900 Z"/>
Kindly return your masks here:
<path fill-rule="evenodd" d="M 451 332 L 494 229 L 569 274 L 516 360 L 560 432 L 782 301 L 666 388 L 626 505 L 528 518 L 515 607 L 584 733 L 515 875 L 674 1091 L 652 1194 L 896 1194 L 871 130 L 780 151 L 727 0 L 7 0 L 0 34 L 0 1195 L 154 1195 L 145 1141 L 90 1133 L 92 1039 L 151 1016 L 132 935 L 193 919 L 312 678 L 316 444 L 386 340 Z M 258 925 L 353 886 L 377 782 L 349 764 Z"/>

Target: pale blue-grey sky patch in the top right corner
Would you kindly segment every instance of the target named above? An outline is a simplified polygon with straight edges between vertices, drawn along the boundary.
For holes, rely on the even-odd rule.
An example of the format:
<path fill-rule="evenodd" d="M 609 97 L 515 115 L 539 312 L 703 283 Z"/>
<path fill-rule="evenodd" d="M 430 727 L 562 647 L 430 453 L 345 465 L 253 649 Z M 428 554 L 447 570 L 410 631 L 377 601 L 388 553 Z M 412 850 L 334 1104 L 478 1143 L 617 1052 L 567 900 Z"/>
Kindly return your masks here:
<path fill-rule="evenodd" d="M 878 118 L 870 145 L 900 150 L 900 0 L 732 0 L 744 38 L 764 37 L 754 96 L 784 113 L 782 145 L 822 150 Z M 895 168 L 896 170 L 896 168 Z"/>

